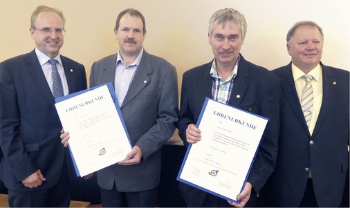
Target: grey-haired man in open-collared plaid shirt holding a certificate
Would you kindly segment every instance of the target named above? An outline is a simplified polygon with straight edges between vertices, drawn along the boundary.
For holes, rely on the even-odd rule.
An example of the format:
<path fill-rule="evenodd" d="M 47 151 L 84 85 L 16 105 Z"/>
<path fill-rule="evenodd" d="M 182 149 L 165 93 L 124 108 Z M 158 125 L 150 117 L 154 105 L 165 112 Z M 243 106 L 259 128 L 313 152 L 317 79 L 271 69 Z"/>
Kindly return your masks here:
<path fill-rule="evenodd" d="M 201 129 L 197 129 L 195 124 L 205 97 L 268 117 L 269 122 L 248 181 L 237 196 L 240 202 L 229 202 L 237 207 L 256 204 L 257 193 L 275 167 L 279 129 L 279 81 L 266 68 L 246 61 L 239 53 L 246 29 L 246 20 L 237 10 L 225 8 L 212 15 L 208 39 L 214 60 L 184 73 L 177 123 L 178 134 L 187 147 L 189 143 L 195 144 L 201 140 Z M 180 183 L 179 188 L 188 207 L 228 205 L 224 200 L 184 183 Z"/>

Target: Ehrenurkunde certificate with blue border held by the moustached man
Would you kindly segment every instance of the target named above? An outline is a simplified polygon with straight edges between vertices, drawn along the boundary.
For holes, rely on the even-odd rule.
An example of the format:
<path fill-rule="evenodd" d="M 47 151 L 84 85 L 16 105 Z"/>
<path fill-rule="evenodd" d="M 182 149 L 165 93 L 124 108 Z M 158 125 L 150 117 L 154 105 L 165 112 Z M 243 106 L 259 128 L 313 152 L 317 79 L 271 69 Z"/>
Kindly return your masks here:
<path fill-rule="evenodd" d="M 125 159 L 131 142 L 111 83 L 57 98 L 77 176 Z"/>

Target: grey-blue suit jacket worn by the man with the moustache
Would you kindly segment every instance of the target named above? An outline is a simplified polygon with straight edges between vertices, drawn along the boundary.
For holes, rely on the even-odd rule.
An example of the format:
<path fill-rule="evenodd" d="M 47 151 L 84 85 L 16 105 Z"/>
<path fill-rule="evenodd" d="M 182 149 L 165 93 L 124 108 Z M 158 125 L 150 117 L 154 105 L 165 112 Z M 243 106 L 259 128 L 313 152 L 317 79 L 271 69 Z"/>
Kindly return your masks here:
<path fill-rule="evenodd" d="M 112 82 L 117 54 L 93 63 L 90 87 Z M 140 164 L 113 164 L 98 171 L 98 185 L 118 191 L 153 189 L 160 178 L 160 148 L 172 137 L 178 120 L 178 86 L 174 66 L 144 51 L 120 106 L 132 145 L 142 151 Z"/>

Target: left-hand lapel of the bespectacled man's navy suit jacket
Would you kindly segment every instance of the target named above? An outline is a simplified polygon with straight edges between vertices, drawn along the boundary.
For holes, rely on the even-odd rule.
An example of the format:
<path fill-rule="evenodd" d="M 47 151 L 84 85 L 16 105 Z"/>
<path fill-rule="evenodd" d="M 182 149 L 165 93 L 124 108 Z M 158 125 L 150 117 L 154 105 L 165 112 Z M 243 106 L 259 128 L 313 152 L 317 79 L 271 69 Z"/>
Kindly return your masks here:
<path fill-rule="evenodd" d="M 42 66 L 40 66 L 37 55 L 35 54 L 35 50 L 29 53 L 28 70 L 35 80 L 35 83 L 37 83 L 37 87 L 40 91 L 42 91 L 46 100 L 48 102 L 55 102 L 53 94 L 50 91 L 50 87 L 48 86 L 48 82 L 46 81 L 45 75 L 42 71 Z"/>

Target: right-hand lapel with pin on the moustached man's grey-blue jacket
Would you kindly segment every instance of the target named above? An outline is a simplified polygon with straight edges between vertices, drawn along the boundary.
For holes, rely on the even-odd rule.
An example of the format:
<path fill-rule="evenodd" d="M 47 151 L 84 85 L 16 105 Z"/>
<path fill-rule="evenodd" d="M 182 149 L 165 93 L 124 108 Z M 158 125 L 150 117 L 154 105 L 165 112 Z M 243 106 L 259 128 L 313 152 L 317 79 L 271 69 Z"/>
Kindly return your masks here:
<path fill-rule="evenodd" d="M 147 86 L 149 82 L 151 82 L 151 79 L 148 76 L 151 73 L 152 73 L 152 68 L 151 68 L 150 56 L 144 50 L 140 64 L 136 70 L 135 75 L 133 76 L 133 80 L 131 81 L 131 84 L 127 91 L 127 95 L 125 95 L 125 99 L 122 102 L 122 106 L 120 106 L 120 108 L 124 107 L 131 100 L 133 100 L 133 98 L 136 97 L 136 95 L 138 95 L 138 93 L 140 93 L 140 91 L 142 91 L 142 89 L 145 86 Z"/>

